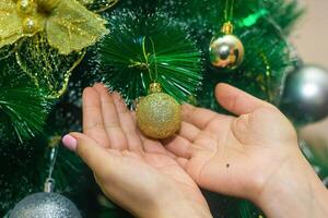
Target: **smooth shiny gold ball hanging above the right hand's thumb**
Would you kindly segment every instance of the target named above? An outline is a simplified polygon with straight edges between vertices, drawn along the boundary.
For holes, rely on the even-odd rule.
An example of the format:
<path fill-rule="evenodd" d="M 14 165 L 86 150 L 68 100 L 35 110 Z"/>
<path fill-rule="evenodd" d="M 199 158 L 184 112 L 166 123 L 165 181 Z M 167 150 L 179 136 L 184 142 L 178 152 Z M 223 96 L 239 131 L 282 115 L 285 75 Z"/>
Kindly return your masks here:
<path fill-rule="evenodd" d="M 210 44 L 211 63 L 220 69 L 236 69 L 244 59 L 244 46 L 235 35 L 221 33 Z"/>

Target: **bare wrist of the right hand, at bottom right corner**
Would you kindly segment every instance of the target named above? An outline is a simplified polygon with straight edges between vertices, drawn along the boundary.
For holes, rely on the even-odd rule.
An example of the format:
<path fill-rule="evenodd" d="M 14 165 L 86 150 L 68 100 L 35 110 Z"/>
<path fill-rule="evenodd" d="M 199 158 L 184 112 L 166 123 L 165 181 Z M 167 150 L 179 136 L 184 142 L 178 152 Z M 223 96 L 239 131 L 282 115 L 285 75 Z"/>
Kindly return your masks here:
<path fill-rule="evenodd" d="M 268 217 L 328 217 L 327 190 L 302 154 L 291 157 L 254 202 Z"/>

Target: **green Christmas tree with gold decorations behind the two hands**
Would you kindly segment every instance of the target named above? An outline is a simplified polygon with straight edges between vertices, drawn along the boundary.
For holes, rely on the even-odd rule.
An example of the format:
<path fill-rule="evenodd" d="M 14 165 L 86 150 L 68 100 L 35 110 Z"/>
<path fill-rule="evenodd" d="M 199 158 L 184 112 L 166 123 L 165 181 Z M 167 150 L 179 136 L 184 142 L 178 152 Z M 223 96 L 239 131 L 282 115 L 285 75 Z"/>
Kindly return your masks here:
<path fill-rule="evenodd" d="M 225 82 L 279 105 L 302 13 L 296 0 L 1 0 L 0 215 L 54 179 L 83 217 L 130 217 L 60 146 L 82 129 L 83 88 L 103 82 L 133 110 L 155 81 L 180 104 L 226 112 L 213 98 Z M 204 194 L 214 217 L 261 215 Z"/>

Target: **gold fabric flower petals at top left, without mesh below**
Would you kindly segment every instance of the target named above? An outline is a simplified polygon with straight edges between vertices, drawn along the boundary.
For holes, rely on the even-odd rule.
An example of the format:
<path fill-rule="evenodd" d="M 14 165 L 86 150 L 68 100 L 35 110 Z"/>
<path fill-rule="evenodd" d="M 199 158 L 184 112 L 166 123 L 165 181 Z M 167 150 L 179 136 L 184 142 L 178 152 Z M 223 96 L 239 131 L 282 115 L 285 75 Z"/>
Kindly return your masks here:
<path fill-rule="evenodd" d="M 44 32 L 60 55 L 81 51 L 108 34 L 105 20 L 87 10 L 92 0 L 1 0 L 0 48 Z M 113 7 L 117 0 L 107 1 Z"/>

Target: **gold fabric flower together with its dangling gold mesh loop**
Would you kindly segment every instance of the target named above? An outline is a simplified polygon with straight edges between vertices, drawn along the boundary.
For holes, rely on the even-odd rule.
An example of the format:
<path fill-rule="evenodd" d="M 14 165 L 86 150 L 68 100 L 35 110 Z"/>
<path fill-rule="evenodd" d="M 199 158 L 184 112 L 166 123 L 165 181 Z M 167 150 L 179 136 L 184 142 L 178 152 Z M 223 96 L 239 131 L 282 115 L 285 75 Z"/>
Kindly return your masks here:
<path fill-rule="evenodd" d="M 108 31 L 97 12 L 118 0 L 0 0 L 0 60 L 15 56 L 45 97 L 60 98 L 86 47 Z"/>

